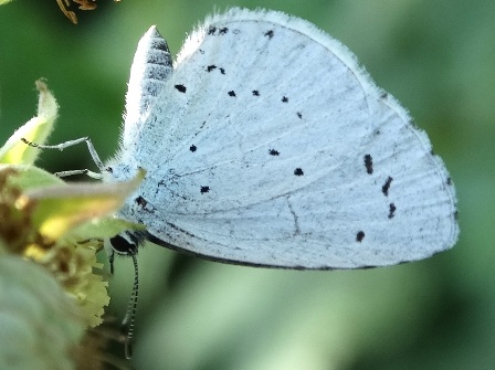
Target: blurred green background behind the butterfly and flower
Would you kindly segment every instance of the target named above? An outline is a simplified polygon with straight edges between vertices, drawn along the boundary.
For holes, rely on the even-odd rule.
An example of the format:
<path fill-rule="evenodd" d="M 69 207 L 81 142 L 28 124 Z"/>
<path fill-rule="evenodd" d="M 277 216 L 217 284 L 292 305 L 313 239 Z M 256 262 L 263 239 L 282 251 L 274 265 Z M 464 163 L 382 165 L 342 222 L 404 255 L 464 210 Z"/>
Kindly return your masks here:
<path fill-rule="evenodd" d="M 147 245 L 139 253 L 136 369 L 495 369 L 495 2 L 492 0 L 55 0 L 0 7 L 0 139 L 34 115 L 34 81 L 61 106 L 51 142 L 117 148 L 136 44 L 157 24 L 172 53 L 214 6 L 305 18 L 343 41 L 408 107 L 454 179 L 452 251 L 388 268 L 291 272 L 222 265 Z M 228 53 L 229 51 L 225 51 Z M 51 171 L 93 165 L 84 146 L 44 152 Z M 103 257 L 103 256 L 102 256 Z M 131 262 L 116 261 L 124 316 Z M 115 346 L 114 353 L 123 357 Z"/>

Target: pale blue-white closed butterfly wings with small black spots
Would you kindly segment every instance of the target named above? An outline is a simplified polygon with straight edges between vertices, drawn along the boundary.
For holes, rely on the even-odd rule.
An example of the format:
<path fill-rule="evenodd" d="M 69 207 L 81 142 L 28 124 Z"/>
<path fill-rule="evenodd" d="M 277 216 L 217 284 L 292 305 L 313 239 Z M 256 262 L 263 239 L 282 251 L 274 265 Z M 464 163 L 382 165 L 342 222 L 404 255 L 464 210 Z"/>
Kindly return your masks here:
<path fill-rule="evenodd" d="M 162 82 L 126 120 L 136 150 L 125 141 L 112 165 L 114 180 L 147 170 L 120 215 L 161 243 L 293 268 L 390 265 L 455 243 L 454 189 L 428 137 L 309 23 L 217 15 Z"/>

